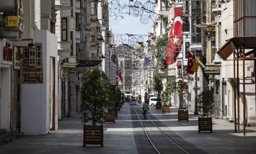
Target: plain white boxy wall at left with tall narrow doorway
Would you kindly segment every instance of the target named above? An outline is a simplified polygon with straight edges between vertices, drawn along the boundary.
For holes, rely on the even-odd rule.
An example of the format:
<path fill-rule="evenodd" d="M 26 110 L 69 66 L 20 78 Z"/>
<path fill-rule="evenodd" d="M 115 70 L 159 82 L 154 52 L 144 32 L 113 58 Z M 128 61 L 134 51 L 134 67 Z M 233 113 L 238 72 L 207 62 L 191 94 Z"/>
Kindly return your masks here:
<path fill-rule="evenodd" d="M 26 135 L 46 135 L 53 119 L 55 129 L 58 128 L 57 36 L 47 30 L 36 30 L 35 34 L 35 42 L 42 44 L 43 84 L 22 84 L 22 132 Z M 55 58 L 54 115 L 50 103 L 50 57 Z"/>

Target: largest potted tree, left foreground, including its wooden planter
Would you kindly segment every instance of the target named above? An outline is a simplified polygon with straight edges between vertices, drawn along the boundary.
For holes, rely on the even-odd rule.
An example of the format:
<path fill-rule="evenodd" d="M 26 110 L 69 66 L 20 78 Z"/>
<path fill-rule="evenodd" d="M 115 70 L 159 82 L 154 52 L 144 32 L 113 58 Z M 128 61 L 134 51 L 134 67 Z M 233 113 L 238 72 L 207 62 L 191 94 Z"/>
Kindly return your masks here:
<path fill-rule="evenodd" d="M 86 70 L 82 76 L 82 125 L 84 147 L 103 147 L 104 103 L 110 97 L 110 81 L 101 70 Z"/>

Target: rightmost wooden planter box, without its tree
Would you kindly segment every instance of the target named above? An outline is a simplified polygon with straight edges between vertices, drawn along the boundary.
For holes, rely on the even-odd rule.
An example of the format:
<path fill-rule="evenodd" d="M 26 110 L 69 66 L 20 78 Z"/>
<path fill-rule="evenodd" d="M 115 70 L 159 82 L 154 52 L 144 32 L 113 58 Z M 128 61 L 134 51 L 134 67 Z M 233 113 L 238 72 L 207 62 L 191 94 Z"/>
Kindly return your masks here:
<path fill-rule="evenodd" d="M 212 117 L 198 117 L 198 133 L 201 131 L 210 131 L 212 133 Z"/>

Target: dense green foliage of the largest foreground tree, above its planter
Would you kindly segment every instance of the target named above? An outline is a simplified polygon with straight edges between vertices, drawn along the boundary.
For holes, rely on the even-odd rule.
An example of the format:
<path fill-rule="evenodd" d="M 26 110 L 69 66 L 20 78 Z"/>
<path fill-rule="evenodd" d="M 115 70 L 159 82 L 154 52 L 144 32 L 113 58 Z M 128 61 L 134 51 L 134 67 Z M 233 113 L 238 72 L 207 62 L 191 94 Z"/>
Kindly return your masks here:
<path fill-rule="evenodd" d="M 110 80 L 101 70 L 86 70 L 82 76 L 82 123 L 104 123 L 104 104 L 111 102 Z"/>

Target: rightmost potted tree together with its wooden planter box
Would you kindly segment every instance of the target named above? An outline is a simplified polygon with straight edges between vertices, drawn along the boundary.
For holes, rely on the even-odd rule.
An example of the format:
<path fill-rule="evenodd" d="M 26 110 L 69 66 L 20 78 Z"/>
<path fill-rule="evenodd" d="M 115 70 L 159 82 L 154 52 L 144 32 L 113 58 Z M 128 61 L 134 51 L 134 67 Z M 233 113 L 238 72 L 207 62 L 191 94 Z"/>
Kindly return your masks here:
<path fill-rule="evenodd" d="M 214 104 L 213 90 L 204 89 L 200 92 L 197 104 L 197 109 L 201 113 L 201 117 L 198 117 L 198 132 L 210 131 L 212 133 L 212 117 L 210 116 L 210 110 L 213 108 Z"/>

